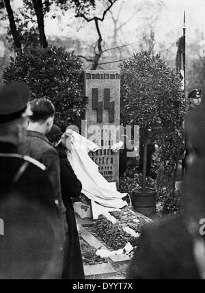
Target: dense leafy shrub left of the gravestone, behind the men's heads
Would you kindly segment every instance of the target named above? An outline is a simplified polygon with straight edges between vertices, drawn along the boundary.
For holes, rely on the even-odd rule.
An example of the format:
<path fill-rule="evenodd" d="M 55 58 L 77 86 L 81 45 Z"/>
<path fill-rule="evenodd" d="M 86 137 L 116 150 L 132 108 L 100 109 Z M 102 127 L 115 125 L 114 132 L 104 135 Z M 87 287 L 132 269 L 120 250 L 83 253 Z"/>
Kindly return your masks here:
<path fill-rule="evenodd" d="M 56 123 L 68 126 L 70 118 L 81 120 L 86 99 L 83 97 L 81 59 L 64 48 L 27 47 L 23 54 L 12 58 L 3 73 L 5 83 L 25 81 L 31 99 L 48 97 L 56 108 Z"/>

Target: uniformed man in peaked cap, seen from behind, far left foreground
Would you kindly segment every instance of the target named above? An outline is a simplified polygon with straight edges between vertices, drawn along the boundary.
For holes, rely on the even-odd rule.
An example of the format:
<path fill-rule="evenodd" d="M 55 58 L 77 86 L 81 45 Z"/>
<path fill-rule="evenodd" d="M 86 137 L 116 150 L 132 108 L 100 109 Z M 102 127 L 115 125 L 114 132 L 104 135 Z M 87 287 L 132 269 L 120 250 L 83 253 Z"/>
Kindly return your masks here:
<path fill-rule="evenodd" d="M 57 199 L 46 167 L 19 153 L 28 100 L 23 83 L 0 88 L 0 279 L 60 279 Z"/>

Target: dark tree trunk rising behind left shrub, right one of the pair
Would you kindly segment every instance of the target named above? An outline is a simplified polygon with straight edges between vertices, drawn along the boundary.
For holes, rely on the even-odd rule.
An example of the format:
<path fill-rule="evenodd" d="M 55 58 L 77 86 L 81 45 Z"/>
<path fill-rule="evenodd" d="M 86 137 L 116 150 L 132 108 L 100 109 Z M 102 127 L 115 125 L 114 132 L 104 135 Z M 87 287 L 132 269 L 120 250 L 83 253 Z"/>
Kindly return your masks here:
<path fill-rule="evenodd" d="M 42 0 L 33 0 L 33 6 L 37 16 L 37 21 L 38 21 L 40 44 L 43 48 L 47 48 L 49 44 L 46 40 L 46 34 L 44 30 L 44 12 L 43 12 Z"/>

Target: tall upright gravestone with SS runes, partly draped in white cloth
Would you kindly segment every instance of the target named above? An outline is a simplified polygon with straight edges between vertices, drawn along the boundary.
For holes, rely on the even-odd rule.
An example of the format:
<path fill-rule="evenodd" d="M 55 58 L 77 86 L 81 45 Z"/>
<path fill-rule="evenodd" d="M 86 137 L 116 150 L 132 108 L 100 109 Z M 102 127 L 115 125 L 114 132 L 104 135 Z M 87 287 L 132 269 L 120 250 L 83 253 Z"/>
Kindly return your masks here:
<path fill-rule="evenodd" d="M 118 182 L 120 152 L 113 153 L 110 148 L 120 141 L 121 75 L 119 71 L 85 71 L 84 78 L 87 138 L 95 136 L 92 141 L 100 146 L 91 157 L 107 181 Z"/>

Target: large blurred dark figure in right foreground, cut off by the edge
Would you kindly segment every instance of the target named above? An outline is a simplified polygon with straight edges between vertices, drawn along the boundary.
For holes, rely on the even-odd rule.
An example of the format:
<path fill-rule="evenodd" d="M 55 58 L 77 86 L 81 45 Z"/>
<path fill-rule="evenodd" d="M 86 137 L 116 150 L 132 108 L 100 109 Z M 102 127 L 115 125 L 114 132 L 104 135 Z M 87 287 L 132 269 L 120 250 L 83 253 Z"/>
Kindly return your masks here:
<path fill-rule="evenodd" d="M 186 130 L 191 149 L 184 181 L 184 212 L 143 229 L 128 270 L 129 279 L 204 279 L 205 109 L 189 113 Z"/>

